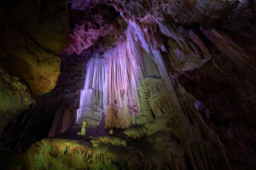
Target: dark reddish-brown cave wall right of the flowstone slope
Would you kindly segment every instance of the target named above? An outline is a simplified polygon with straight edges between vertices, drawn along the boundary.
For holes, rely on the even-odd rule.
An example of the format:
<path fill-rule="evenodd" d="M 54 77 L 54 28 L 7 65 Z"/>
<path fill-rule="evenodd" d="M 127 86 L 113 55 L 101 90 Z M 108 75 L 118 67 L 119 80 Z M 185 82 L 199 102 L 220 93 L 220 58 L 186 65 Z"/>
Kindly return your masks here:
<path fill-rule="evenodd" d="M 254 31 L 249 31 L 246 40 L 241 32 L 231 35 L 233 40 L 243 40 L 251 65 L 255 49 L 250 46 L 255 39 L 250 35 L 255 35 Z M 214 44 L 209 43 L 207 48 L 212 51 L 212 59 L 199 69 L 185 71 L 177 80 L 198 100 L 199 112 L 218 134 L 232 168 L 251 169 L 255 167 L 255 79 L 237 67 L 224 51 L 216 50 Z M 240 149 L 233 149 L 237 146 Z"/>

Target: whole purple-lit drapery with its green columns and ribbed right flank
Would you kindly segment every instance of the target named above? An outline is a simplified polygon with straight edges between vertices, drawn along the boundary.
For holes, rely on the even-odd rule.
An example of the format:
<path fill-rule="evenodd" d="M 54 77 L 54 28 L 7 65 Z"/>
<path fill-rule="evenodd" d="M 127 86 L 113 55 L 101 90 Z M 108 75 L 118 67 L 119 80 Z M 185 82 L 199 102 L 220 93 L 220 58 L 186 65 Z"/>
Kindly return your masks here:
<path fill-rule="evenodd" d="M 171 75 L 172 69 L 186 65 L 182 60 L 187 51 L 206 56 L 208 50 L 195 40 L 200 38 L 193 32 L 190 36 L 194 39 L 189 41 L 174 25 L 162 24 L 160 28 L 168 36 L 168 51 L 156 27 L 130 22 L 126 41 L 90 59 L 77 124 L 86 121 L 88 126 L 98 126 L 103 131 L 125 129 L 123 133 L 132 140 L 164 130 L 174 143 L 183 146 L 194 169 L 230 169 L 218 136 L 205 125 L 195 107 L 195 98 Z M 175 148 L 170 149 L 170 153 L 174 152 Z M 129 154 L 111 156 L 108 159 L 129 161 Z M 177 159 L 184 163 L 184 158 Z M 185 166 L 176 167 L 180 168 Z"/>

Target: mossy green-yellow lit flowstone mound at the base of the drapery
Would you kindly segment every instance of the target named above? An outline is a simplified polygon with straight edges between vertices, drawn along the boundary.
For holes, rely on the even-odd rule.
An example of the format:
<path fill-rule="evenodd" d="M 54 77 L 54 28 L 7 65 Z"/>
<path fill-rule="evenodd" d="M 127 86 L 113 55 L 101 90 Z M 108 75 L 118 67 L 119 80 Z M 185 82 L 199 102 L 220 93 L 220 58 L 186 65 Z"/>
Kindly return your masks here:
<path fill-rule="evenodd" d="M 181 106 L 189 115 L 171 106 L 151 122 L 86 139 L 82 138 L 84 121 L 77 140 L 43 139 L 13 162 L 13 168 L 189 169 L 189 161 L 193 169 L 230 169 L 217 135 L 202 122 L 194 106 L 186 107 L 191 104 L 189 94 L 180 86 L 177 93 L 186 96 Z"/>

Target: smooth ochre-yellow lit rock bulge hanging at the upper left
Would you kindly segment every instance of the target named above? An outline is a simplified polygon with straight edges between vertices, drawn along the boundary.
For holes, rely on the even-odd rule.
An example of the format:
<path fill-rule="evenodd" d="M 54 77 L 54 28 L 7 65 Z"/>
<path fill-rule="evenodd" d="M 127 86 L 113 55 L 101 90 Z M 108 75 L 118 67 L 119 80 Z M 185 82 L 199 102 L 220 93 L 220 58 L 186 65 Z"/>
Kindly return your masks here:
<path fill-rule="evenodd" d="M 69 44 L 67 1 L 2 1 L 3 65 L 25 80 L 33 94 L 47 93 L 60 73 Z"/>

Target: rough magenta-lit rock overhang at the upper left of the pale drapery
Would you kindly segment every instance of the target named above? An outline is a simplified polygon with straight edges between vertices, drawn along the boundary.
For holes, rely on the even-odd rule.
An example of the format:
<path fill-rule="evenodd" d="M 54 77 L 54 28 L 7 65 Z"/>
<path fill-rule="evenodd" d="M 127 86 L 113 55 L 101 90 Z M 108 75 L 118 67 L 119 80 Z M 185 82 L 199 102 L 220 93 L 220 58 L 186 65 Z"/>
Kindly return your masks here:
<path fill-rule="evenodd" d="M 81 13 L 70 10 L 69 22 L 73 27 L 70 34 L 71 44 L 66 49 L 68 54 L 74 51 L 80 54 L 99 40 L 102 43 L 97 50 L 104 53 L 108 48 L 115 47 L 120 39 L 125 40 L 127 23 L 113 6 L 98 4 Z"/>

